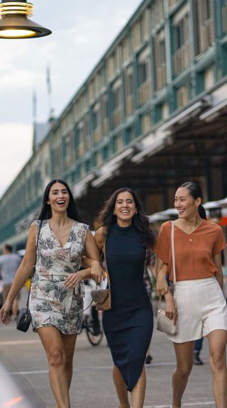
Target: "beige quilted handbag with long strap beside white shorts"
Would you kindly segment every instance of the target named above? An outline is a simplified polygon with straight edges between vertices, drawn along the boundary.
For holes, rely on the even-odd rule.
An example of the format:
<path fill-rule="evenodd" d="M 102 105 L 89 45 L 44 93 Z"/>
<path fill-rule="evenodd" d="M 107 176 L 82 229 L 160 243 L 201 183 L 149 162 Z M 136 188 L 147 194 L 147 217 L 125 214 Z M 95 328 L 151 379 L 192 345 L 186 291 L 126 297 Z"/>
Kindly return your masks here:
<path fill-rule="evenodd" d="M 174 301 L 176 307 L 176 268 L 175 268 L 175 245 L 174 245 L 174 236 L 175 236 L 175 224 L 172 221 L 171 229 L 171 245 L 172 245 L 172 268 L 173 268 L 173 277 L 174 277 Z M 173 324 L 173 320 L 165 316 L 165 310 L 161 308 L 161 296 L 159 298 L 159 304 L 157 308 L 157 330 L 163 331 L 167 334 L 177 334 L 177 325 Z"/>

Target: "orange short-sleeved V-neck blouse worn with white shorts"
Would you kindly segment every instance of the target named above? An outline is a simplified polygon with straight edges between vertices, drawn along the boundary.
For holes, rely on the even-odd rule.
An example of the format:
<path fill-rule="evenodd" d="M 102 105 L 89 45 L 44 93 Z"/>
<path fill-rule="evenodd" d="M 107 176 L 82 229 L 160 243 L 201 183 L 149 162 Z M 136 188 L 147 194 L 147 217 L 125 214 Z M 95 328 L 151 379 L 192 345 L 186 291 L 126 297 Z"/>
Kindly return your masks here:
<path fill-rule="evenodd" d="M 213 277 L 216 271 L 214 256 L 226 248 L 221 226 L 203 220 L 190 234 L 175 226 L 175 265 L 177 280 L 204 279 Z M 171 221 L 160 228 L 154 252 L 169 265 L 170 280 L 172 273 Z"/>

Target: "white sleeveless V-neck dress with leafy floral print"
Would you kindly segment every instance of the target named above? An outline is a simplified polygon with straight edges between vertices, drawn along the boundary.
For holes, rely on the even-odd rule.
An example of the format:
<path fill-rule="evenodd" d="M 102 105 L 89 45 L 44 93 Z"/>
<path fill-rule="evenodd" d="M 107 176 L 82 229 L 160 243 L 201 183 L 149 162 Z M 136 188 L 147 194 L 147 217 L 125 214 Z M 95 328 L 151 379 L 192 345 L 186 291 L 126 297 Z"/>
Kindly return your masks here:
<path fill-rule="evenodd" d="M 37 227 L 37 241 L 40 220 L 32 225 Z M 88 228 L 74 221 L 62 247 L 49 220 L 43 221 L 29 299 L 33 331 L 43 326 L 55 326 L 63 334 L 81 331 L 84 283 L 66 289 L 64 282 L 70 273 L 79 271 Z"/>

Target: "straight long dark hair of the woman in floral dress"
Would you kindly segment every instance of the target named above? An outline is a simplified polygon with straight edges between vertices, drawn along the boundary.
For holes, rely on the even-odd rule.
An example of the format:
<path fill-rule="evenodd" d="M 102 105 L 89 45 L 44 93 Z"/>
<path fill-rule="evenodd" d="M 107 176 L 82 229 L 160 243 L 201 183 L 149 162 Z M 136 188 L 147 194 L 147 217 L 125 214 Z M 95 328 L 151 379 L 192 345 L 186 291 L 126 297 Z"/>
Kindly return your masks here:
<path fill-rule="evenodd" d="M 69 205 L 67 206 L 67 216 L 69 216 L 71 219 L 74 219 L 75 221 L 83 222 L 82 218 L 81 218 L 81 216 L 79 214 L 79 211 L 77 209 L 77 206 L 76 206 L 76 204 L 74 202 L 70 187 L 68 186 L 68 184 L 66 182 L 64 182 L 63 180 L 60 180 L 60 179 L 52 180 L 47 185 L 47 187 L 45 187 L 45 192 L 43 194 L 43 206 L 42 206 L 42 209 L 40 211 L 40 215 L 38 216 L 38 219 L 49 219 L 52 216 L 50 204 L 48 204 L 48 199 L 49 199 L 49 194 L 50 194 L 50 188 L 55 183 L 63 184 L 66 187 L 67 192 L 70 195 L 70 202 L 69 202 Z"/>

